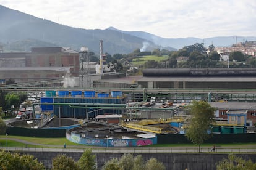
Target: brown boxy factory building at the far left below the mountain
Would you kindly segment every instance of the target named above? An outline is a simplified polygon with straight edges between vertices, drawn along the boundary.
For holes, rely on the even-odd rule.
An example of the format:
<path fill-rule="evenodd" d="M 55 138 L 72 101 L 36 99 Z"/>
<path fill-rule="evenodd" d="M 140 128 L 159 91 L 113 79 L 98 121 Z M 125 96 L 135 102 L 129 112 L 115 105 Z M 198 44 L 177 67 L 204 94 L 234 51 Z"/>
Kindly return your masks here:
<path fill-rule="evenodd" d="M 64 47 L 32 47 L 31 52 L 0 53 L 0 79 L 27 83 L 79 76 L 79 52 Z"/>

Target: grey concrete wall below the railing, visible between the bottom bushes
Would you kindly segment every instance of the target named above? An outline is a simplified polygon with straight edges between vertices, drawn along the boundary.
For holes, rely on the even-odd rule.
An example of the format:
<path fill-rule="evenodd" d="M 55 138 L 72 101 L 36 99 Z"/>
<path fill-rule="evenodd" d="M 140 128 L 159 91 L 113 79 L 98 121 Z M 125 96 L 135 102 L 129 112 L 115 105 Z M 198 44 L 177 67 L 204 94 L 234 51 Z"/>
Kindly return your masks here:
<path fill-rule="evenodd" d="M 20 152 L 21 154 L 30 154 L 34 155 L 38 161 L 41 161 L 46 168 L 51 168 L 51 160 L 58 155 L 58 152 Z M 78 161 L 82 153 L 66 152 L 61 153 L 67 156 L 74 158 L 75 161 Z M 122 153 L 93 153 L 96 155 L 96 163 L 98 169 L 101 169 L 104 163 L 111 158 L 121 158 Z M 227 154 L 207 154 L 207 153 L 139 153 L 134 154 L 142 155 L 144 160 L 149 160 L 150 158 L 156 158 L 158 161 L 161 161 L 166 169 L 207 169 L 213 170 L 216 169 L 216 163 L 221 161 L 223 158 L 227 158 Z M 256 162 L 256 154 L 239 154 L 239 157 L 245 158 L 246 160 L 252 160 Z"/>

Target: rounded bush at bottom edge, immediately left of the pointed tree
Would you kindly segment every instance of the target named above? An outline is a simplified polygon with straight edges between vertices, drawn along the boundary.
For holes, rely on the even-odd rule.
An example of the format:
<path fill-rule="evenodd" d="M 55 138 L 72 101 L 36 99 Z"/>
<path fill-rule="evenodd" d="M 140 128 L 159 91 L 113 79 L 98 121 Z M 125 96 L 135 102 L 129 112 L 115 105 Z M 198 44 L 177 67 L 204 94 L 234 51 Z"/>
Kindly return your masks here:
<path fill-rule="evenodd" d="M 73 158 L 64 154 L 58 154 L 52 160 L 53 170 L 77 170 L 79 166 Z"/>

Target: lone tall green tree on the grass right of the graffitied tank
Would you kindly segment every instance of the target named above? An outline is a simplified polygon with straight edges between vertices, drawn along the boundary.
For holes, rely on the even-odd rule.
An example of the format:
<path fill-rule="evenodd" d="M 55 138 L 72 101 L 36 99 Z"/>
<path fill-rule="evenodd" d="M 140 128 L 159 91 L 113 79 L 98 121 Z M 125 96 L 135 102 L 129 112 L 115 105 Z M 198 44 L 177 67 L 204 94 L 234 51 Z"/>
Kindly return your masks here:
<path fill-rule="evenodd" d="M 188 107 L 192 119 L 189 122 L 189 127 L 186 129 L 185 136 L 194 144 L 200 146 L 203 142 L 211 137 L 209 133 L 210 124 L 214 122 L 214 111 L 216 108 L 211 107 L 208 102 L 193 101 Z"/>

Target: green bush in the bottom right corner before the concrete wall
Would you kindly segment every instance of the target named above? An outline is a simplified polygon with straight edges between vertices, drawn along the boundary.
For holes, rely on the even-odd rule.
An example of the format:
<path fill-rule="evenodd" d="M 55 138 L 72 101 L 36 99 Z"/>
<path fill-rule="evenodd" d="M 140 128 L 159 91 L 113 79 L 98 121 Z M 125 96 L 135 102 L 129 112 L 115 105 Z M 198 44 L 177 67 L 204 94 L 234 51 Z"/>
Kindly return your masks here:
<path fill-rule="evenodd" d="M 253 163 L 252 160 L 244 160 L 239 158 L 233 153 L 229 153 L 228 159 L 223 158 L 220 162 L 216 164 L 217 170 L 255 170 L 256 163 Z"/>

